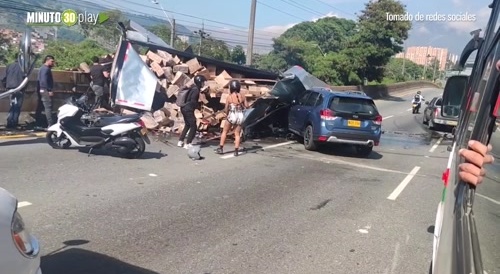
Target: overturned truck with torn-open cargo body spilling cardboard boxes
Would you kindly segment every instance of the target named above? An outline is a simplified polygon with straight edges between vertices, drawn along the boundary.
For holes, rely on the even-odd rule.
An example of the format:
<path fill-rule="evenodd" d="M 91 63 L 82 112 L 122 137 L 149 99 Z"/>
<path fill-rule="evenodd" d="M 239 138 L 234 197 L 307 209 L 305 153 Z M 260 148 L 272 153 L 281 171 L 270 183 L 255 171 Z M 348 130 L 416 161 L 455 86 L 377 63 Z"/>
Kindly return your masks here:
<path fill-rule="evenodd" d="M 183 120 L 174 103 L 176 94 L 192 84 L 196 75 L 209 80 L 209 89 L 200 96 L 201 108 L 196 113 L 198 129 L 219 132 L 224 126 L 227 85 L 236 79 L 251 104 L 244 132 L 252 138 L 286 134 L 292 101 L 308 88 L 328 87 L 298 66 L 278 75 L 229 64 L 178 51 L 133 21 L 119 25 L 122 39 L 111 70 L 111 99 L 124 112 L 145 112 L 143 119 L 151 130 L 182 130 Z"/>

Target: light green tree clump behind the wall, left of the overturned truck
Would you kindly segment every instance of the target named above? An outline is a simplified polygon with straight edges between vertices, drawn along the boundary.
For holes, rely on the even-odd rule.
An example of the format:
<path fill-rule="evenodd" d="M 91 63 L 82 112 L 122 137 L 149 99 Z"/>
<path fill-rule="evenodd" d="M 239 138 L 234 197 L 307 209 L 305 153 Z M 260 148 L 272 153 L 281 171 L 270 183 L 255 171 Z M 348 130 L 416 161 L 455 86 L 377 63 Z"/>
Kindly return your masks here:
<path fill-rule="evenodd" d="M 78 67 L 80 63 L 85 62 L 90 64 L 93 56 L 103 56 L 109 51 L 103 48 L 95 40 L 87 39 L 81 43 L 71 43 L 67 41 L 50 41 L 45 50 L 44 55 L 53 55 L 56 59 L 57 70 L 66 70 Z M 37 66 L 40 66 L 42 60 L 38 60 Z"/>

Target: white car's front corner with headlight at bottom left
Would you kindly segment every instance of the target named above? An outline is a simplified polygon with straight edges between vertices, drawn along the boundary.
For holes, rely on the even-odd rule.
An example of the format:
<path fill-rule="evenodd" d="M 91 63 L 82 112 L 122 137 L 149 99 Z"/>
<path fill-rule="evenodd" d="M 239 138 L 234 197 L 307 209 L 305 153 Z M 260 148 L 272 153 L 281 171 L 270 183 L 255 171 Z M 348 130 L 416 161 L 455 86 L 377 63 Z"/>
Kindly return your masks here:
<path fill-rule="evenodd" d="M 17 199 L 0 188 L 0 273 L 42 274 L 40 246 L 17 211 Z"/>

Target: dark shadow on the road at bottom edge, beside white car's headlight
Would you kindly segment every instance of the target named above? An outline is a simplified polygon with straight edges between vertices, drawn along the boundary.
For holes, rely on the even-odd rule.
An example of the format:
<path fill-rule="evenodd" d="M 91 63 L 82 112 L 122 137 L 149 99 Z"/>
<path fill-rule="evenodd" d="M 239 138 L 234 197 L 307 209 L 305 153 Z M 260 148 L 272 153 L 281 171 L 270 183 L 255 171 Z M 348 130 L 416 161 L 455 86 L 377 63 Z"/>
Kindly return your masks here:
<path fill-rule="evenodd" d="M 87 240 L 64 242 L 64 247 L 42 257 L 44 274 L 159 274 L 133 266 L 104 254 L 71 247 L 88 243 Z M 66 249 L 67 248 L 67 249 Z"/>

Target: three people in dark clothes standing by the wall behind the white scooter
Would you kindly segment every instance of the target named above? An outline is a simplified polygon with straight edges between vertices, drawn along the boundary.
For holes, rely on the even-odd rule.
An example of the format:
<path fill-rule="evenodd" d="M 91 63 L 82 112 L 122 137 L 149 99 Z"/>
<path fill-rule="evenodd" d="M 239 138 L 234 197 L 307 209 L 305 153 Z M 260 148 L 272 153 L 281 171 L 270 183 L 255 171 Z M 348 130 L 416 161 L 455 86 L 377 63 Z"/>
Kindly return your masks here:
<path fill-rule="evenodd" d="M 7 65 L 5 69 L 5 76 L 2 78 L 2 83 L 4 87 L 9 89 L 15 89 L 21 85 L 24 80 L 24 72 L 18 61 L 18 54 L 15 55 L 15 61 Z M 99 64 L 99 58 L 94 56 L 92 58 L 93 65 L 90 67 L 90 77 L 91 77 L 91 88 L 96 96 L 96 104 L 101 105 L 102 97 L 104 95 L 104 86 L 106 79 L 109 78 L 109 71 Z M 55 58 L 52 55 L 47 55 L 43 59 L 43 64 L 38 70 L 38 80 L 37 80 L 37 94 L 38 94 L 38 105 L 36 108 L 35 119 L 38 127 L 50 127 L 54 124 L 54 119 L 52 116 L 52 97 L 54 96 L 54 77 L 52 76 L 52 68 L 55 66 Z M 9 129 L 16 129 L 19 126 L 19 116 L 21 115 L 21 109 L 24 100 L 24 92 L 26 87 L 22 90 L 15 92 L 10 97 L 10 109 L 9 115 L 7 116 L 7 125 Z M 43 122 L 42 112 L 45 110 L 45 120 Z"/>

